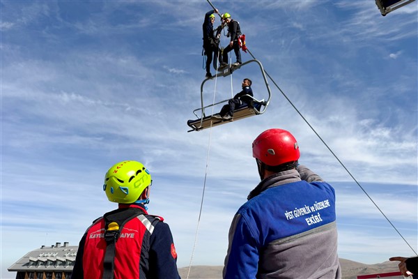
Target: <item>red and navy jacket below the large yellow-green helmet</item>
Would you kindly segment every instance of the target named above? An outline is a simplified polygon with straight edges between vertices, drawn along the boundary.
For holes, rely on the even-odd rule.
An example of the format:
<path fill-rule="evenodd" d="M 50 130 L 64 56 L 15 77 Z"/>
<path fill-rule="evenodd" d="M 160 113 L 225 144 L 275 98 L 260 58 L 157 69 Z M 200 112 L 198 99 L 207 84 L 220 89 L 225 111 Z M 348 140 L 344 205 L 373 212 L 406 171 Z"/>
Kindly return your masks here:
<path fill-rule="evenodd" d="M 79 243 L 72 278 L 102 278 L 106 223 L 121 226 L 129 216 L 134 218 L 123 225 L 115 244 L 114 279 L 180 278 L 169 225 L 162 222 L 163 218 L 148 215 L 144 206 L 137 204 L 119 204 L 118 209 L 88 227 Z"/>

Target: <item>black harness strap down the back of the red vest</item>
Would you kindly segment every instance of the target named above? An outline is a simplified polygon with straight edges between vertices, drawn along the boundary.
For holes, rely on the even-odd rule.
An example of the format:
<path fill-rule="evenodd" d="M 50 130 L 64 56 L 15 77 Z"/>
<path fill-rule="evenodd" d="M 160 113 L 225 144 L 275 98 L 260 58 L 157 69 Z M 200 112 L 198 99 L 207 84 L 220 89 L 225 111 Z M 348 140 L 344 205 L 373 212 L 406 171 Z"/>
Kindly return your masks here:
<path fill-rule="evenodd" d="M 105 214 L 105 231 L 104 231 L 104 240 L 106 241 L 106 252 L 104 253 L 104 260 L 103 260 L 103 277 L 102 279 L 113 279 L 114 278 L 114 269 L 115 269 L 115 246 L 116 241 L 118 241 L 119 235 L 123 229 L 123 226 L 133 218 L 144 214 L 144 212 L 137 211 L 134 214 L 130 213 L 127 216 L 121 225 L 118 223 L 108 220 L 107 215 Z"/>

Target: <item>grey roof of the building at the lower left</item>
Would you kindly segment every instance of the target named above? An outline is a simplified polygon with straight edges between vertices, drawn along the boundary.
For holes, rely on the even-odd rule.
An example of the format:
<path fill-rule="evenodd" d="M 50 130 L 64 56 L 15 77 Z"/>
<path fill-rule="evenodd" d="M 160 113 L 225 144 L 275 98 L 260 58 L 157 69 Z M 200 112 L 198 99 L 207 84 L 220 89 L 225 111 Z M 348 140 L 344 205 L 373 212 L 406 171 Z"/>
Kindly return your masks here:
<path fill-rule="evenodd" d="M 72 271 L 78 246 L 57 242 L 28 252 L 8 268 L 8 271 Z"/>

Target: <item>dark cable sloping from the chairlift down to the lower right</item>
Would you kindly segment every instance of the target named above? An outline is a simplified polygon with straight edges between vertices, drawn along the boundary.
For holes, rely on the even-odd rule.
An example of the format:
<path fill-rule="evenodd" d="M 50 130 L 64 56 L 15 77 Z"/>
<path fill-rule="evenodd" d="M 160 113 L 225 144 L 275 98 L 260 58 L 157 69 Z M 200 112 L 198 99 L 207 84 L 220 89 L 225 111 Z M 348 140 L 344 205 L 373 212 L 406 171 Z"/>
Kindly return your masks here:
<path fill-rule="evenodd" d="M 254 55 L 249 51 L 249 49 L 247 48 L 248 53 L 252 56 L 253 59 L 256 59 L 254 57 Z M 366 190 L 364 190 L 364 188 L 362 187 L 362 185 L 359 183 L 359 181 L 357 181 L 357 179 L 355 179 L 355 177 L 353 176 L 353 174 L 351 174 L 351 172 L 347 169 L 346 165 L 343 164 L 343 162 L 341 162 L 341 160 L 338 158 L 338 156 L 336 156 L 336 154 L 334 153 L 334 151 L 332 151 L 332 149 L 330 148 L 330 146 L 328 146 L 328 144 L 323 140 L 322 137 L 320 137 L 320 135 L 316 132 L 316 130 L 314 129 L 314 127 L 311 126 L 311 124 L 309 123 L 309 121 L 307 121 L 307 119 L 302 115 L 302 113 L 297 110 L 297 107 L 295 107 L 295 105 L 292 103 L 292 101 L 288 98 L 288 96 L 286 96 L 286 94 L 284 93 L 284 91 L 282 91 L 280 89 L 280 87 L 276 84 L 276 82 L 274 82 L 274 80 L 272 79 L 272 77 L 268 74 L 268 72 L 266 70 L 264 70 L 265 75 L 267 75 L 270 80 L 273 82 L 273 84 L 277 87 L 277 89 L 279 89 L 280 93 L 284 96 L 284 98 L 286 98 L 286 100 L 288 100 L 288 102 L 292 105 L 292 107 L 296 110 L 297 114 L 300 115 L 300 117 L 302 117 L 302 119 L 305 121 L 305 123 L 307 123 L 307 125 L 309 126 L 309 128 L 311 128 L 312 131 L 314 131 L 315 135 L 319 138 L 319 140 L 321 142 L 323 142 L 323 144 L 325 145 L 325 147 L 327 147 L 327 149 L 332 153 L 332 155 L 336 158 L 336 160 L 340 163 L 340 165 L 346 169 L 346 172 L 351 176 L 351 178 L 355 181 L 355 183 L 357 184 L 357 186 L 359 186 L 360 189 L 362 189 L 362 191 L 364 192 L 364 194 L 366 194 L 367 197 L 369 197 L 369 199 L 371 200 L 371 202 L 376 206 L 376 208 L 378 209 L 378 211 L 380 211 L 380 213 L 382 213 L 382 216 L 385 217 L 385 219 L 387 220 L 387 222 L 389 222 L 390 225 L 392 225 L 392 227 L 395 229 L 395 231 L 399 234 L 399 236 L 401 236 L 401 238 L 403 239 L 403 241 L 405 241 L 405 243 L 409 246 L 409 248 L 412 250 L 412 252 L 415 253 L 415 255 L 418 256 L 417 252 L 415 251 L 414 248 L 412 248 L 412 246 L 410 246 L 410 243 L 408 243 L 408 241 L 406 241 L 406 239 L 403 237 L 403 235 L 401 234 L 401 232 L 398 231 L 398 229 L 396 229 L 396 227 L 394 226 L 394 224 L 389 220 L 389 218 L 387 218 L 387 216 L 385 215 L 385 213 L 383 213 L 383 211 L 380 209 L 380 207 L 378 206 L 378 204 L 376 204 L 376 202 L 374 202 L 374 200 L 371 198 L 371 196 L 366 192 Z"/>

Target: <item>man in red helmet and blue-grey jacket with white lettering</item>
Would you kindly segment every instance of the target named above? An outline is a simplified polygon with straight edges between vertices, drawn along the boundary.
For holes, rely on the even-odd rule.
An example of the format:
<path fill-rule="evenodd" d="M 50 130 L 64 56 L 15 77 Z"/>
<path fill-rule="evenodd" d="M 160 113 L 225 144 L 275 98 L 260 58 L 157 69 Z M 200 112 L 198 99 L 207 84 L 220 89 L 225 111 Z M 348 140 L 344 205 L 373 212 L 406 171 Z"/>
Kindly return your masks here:
<path fill-rule="evenodd" d="M 233 218 L 223 278 L 341 278 L 332 186 L 299 165 L 287 130 L 265 130 L 252 150 L 261 182 Z"/>

